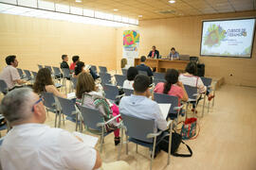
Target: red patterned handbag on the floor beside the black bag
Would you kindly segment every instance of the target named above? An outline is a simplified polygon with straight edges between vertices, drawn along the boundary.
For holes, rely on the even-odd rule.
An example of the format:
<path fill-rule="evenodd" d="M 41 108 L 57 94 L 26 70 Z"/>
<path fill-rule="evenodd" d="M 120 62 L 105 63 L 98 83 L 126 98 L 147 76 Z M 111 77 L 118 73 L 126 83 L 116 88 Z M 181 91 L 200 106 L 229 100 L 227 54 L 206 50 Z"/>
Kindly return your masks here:
<path fill-rule="evenodd" d="M 184 122 L 181 128 L 181 136 L 183 140 L 195 139 L 198 136 L 199 131 L 196 135 L 196 125 L 197 118 L 195 117 L 189 118 Z"/>

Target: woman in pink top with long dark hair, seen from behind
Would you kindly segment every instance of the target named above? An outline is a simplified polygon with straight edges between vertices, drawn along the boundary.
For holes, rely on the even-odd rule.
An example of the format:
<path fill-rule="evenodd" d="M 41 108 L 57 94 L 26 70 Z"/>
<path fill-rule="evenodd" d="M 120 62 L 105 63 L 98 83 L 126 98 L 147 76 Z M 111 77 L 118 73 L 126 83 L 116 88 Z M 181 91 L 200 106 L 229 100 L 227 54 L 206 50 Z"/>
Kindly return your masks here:
<path fill-rule="evenodd" d="M 178 97 L 178 103 L 180 100 L 187 101 L 189 99 L 187 92 L 184 89 L 182 82 L 178 81 L 178 71 L 170 69 L 165 75 L 166 82 L 159 82 L 155 86 L 155 93 L 166 93 Z"/>

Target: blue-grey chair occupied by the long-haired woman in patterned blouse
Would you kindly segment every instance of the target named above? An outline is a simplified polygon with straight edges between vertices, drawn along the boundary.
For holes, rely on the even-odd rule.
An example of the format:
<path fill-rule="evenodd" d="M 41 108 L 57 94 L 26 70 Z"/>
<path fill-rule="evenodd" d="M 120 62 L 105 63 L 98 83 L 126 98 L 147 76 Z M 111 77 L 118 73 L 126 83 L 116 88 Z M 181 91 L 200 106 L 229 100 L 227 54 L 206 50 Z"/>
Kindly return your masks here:
<path fill-rule="evenodd" d="M 102 144 L 104 143 L 104 137 L 110 134 L 111 132 L 106 132 L 105 126 L 111 121 L 117 119 L 120 115 L 117 115 L 110 119 L 107 122 L 102 121 L 103 117 L 100 110 L 91 109 L 85 106 L 79 106 L 79 109 L 82 113 L 83 125 L 85 129 L 93 134 L 101 136 L 101 149 Z"/>

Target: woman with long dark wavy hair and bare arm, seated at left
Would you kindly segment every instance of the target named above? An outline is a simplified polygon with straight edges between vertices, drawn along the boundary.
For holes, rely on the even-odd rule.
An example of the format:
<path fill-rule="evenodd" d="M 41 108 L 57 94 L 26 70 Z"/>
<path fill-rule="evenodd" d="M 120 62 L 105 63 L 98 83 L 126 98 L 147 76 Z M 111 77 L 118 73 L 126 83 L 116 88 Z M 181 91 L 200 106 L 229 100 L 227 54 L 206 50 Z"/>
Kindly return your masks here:
<path fill-rule="evenodd" d="M 50 71 L 47 68 L 42 68 L 38 71 L 36 80 L 33 84 L 33 90 L 35 93 L 42 94 L 44 92 L 53 93 L 56 96 L 64 97 L 64 93 L 60 93 L 54 86 L 51 78 Z"/>

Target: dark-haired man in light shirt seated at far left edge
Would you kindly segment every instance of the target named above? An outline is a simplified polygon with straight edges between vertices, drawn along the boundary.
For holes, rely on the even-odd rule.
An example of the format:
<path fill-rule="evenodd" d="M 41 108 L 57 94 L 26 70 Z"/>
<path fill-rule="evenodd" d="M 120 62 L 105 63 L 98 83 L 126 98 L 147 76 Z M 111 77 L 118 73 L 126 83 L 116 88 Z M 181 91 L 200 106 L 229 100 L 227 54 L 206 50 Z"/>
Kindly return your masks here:
<path fill-rule="evenodd" d="M 25 84 L 27 83 L 26 80 L 21 79 L 18 70 L 16 67 L 18 66 L 18 60 L 16 59 L 16 56 L 8 56 L 6 58 L 6 63 L 8 64 L 0 74 L 0 79 L 3 79 L 6 81 L 9 91 L 13 90 L 15 88 L 15 84 Z"/>

